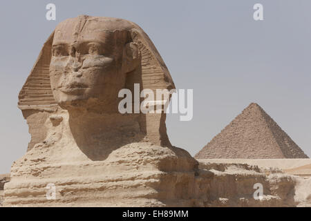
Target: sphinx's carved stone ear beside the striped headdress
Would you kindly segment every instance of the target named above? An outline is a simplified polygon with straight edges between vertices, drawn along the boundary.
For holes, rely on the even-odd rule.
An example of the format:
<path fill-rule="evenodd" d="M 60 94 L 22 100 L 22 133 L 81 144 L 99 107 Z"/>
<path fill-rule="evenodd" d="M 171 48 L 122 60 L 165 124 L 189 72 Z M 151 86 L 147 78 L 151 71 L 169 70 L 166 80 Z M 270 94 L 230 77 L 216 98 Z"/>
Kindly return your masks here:
<path fill-rule="evenodd" d="M 123 49 L 123 73 L 129 73 L 135 70 L 140 64 L 140 57 L 140 51 L 136 43 L 130 42 L 126 44 Z"/>

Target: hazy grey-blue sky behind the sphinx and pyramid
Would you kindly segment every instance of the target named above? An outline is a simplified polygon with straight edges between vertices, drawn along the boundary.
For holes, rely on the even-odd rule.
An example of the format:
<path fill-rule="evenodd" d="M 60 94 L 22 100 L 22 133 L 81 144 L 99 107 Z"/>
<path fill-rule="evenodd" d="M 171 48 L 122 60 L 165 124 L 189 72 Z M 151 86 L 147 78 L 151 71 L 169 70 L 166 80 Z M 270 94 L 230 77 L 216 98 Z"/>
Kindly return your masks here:
<path fill-rule="evenodd" d="M 55 3 L 56 21 L 46 20 Z M 253 6 L 263 4 L 263 21 Z M 167 116 L 171 143 L 194 155 L 256 102 L 311 156 L 311 1 L 3 1 L 0 7 L 0 173 L 30 140 L 17 95 L 41 46 L 77 15 L 138 23 L 177 88 L 194 89 L 194 118 Z"/>

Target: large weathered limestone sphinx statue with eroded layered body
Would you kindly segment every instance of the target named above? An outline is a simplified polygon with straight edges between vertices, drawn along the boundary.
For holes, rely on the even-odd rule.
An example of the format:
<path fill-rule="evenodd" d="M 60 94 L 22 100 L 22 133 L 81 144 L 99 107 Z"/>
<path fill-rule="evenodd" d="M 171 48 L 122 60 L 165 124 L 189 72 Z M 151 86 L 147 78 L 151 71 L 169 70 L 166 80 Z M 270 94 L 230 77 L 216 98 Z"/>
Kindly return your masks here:
<path fill-rule="evenodd" d="M 165 113 L 117 109 L 119 91 L 134 84 L 175 88 L 138 25 L 85 15 L 59 23 L 19 93 L 31 140 L 12 165 L 4 205 L 191 204 L 198 162 L 171 145 Z M 54 200 L 46 198 L 48 184 Z"/>

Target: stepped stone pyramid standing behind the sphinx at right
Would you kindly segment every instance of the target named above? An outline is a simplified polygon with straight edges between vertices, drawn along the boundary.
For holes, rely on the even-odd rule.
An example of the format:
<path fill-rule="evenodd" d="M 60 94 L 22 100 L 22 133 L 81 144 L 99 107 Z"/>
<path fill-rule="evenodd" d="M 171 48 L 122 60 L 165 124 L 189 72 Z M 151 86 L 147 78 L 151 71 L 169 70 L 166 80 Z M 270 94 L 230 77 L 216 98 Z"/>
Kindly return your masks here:
<path fill-rule="evenodd" d="M 263 111 L 249 104 L 223 131 L 195 155 L 196 159 L 309 158 Z"/>

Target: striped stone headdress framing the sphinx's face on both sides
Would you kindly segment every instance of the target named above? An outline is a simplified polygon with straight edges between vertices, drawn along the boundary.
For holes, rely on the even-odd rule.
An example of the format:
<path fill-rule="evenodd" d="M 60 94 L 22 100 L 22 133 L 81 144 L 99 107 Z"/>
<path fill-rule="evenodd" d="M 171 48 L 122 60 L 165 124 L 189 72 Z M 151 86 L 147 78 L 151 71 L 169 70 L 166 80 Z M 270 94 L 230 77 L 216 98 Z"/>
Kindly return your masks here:
<path fill-rule="evenodd" d="M 149 88 L 156 89 L 174 89 L 173 80 L 169 74 L 167 66 L 160 57 L 158 50 L 153 45 L 146 33 L 138 25 L 124 19 L 112 19 L 108 17 L 88 17 L 81 16 L 78 19 L 84 19 L 84 25 L 88 20 L 97 22 L 115 23 L 117 28 L 126 29 L 131 35 L 131 41 L 138 45 L 141 55 L 140 72 L 133 72 L 126 75 L 126 84 L 124 88 L 132 90 L 133 84 L 140 84 L 140 90 Z M 59 111 L 61 108 L 55 102 L 53 92 L 50 86 L 49 67 L 52 55 L 54 32 L 48 37 L 44 44 L 35 66 L 33 66 L 26 83 L 19 93 L 18 106 L 27 119 L 29 131 L 32 136 L 28 144 L 30 150 L 35 144 L 43 142 L 47 128 L 44 126 L 46 119 Z M 166 133 L 164 113 L 149 113 L 140 117 L 140 127 L 143 133 L 149 137 L 151 142 L 160 145 L 169 145 Z"/>

